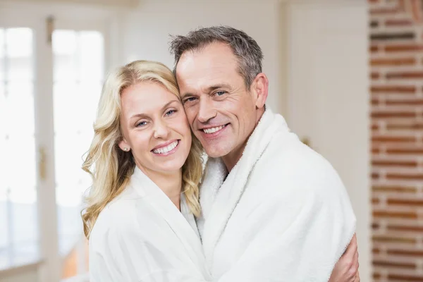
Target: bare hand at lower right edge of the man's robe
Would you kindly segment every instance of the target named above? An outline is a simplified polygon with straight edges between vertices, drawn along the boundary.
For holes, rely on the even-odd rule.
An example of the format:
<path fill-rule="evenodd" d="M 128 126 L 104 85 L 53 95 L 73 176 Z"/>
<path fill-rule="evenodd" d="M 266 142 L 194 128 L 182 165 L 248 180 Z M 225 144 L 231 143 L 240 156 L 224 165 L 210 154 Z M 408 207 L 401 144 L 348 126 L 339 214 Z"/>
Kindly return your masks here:
<path fill-rule="evenodd" d="M 358 266 L 357 237 L 354 235 L 347 250 L 333 268 L 329 282 L 360 282 Z"/>

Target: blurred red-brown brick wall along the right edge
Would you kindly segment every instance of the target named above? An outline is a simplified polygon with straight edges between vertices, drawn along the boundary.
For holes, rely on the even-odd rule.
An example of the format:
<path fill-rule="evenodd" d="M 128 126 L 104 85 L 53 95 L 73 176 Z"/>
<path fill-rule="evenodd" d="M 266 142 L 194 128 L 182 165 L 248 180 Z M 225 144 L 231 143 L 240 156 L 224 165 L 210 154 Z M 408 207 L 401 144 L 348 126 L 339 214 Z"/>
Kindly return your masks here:
<path fill-rule="evenodd" d="M 423 281 L 423 1 L 368 1 L 373 277 Z"/>

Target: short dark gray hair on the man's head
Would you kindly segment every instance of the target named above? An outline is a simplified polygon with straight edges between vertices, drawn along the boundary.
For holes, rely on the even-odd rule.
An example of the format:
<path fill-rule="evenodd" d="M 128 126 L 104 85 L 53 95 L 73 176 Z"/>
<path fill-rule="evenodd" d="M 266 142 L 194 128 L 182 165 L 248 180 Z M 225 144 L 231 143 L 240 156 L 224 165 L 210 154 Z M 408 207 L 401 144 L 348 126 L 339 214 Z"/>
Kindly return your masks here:
<path fill-rule="evenodd" d="M 250 89 L 252 81 L 262 72 L 263 52 L 255 39 L 229 26 L 202 27 L 186 36 L 172 36 L 170 51 L 175 56 L 173 73 L 176 75 L 176 66 L 183 53 L 201 49 L 213 42 L 227 43 L 231 47 L 238 58 L 238 73 L 243 76 L 247 89 Z"/>

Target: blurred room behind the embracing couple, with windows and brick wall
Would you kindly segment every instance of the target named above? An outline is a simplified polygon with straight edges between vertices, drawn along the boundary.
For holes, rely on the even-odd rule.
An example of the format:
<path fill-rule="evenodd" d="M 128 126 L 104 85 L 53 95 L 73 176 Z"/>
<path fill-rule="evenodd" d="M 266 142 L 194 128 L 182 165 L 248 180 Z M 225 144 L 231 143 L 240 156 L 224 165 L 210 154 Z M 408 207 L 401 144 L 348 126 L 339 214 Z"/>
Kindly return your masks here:
<path fill-rule="evenodd" d="M 0 281 L 88 281 L 104 76 L 209 25 L 257 40 L 268 106 L 343 178 L 362 281 L 423 281 L 422 0 L 0 0 Z"/>

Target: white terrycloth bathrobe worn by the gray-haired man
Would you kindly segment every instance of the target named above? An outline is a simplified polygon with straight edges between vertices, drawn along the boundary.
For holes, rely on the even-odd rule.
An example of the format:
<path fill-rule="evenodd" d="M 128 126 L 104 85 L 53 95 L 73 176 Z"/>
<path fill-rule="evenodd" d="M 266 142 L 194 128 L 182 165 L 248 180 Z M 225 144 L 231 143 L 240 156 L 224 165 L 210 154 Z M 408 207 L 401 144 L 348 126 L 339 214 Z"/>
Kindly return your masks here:
<path fill-rule="evenodd" d="M 355 233 L 336 171 L 267 109 L 227 175 L 209 158 L 197 219 L 213 280 L 328 281 Z"/>

